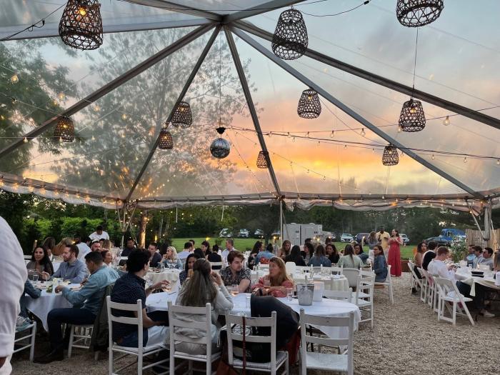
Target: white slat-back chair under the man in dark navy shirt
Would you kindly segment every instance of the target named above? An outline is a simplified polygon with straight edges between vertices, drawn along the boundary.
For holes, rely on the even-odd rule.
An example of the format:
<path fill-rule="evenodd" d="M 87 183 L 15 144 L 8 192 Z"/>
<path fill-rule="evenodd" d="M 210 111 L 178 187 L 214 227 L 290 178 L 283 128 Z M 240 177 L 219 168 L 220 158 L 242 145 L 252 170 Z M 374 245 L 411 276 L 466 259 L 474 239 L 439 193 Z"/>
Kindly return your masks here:
<path fill-rule="evenodd" d="M 108 366 L 108 374 L 116 375 L 119 371 L 126 369 L 129 366 L 132 366 L 137 363 L 137 374 L 141 375 L 142 371 L 149 369 L 153 366 L 158 366 L 160 364 L 164 364 L 168 362 L 169 359 L 161 359 L 160 361 L 156 361 L 154 363 L 148 364 L 147 366 L 143 366 L 143 359 L 145 356 L 151 356 L 152 354 L 159 353 L 159 351 L 165 350 L 161 345 L 143 345 L 143 325 L 142 325 L 142 301 L 140 299 L 137 300 L 137 304 L 119 304 L 117 302 L 111 302 L 111 296 L 106 296 L 106 304 L 108 309 L 108 328 L 109 328 L 109 366 Z M 120 311 L 131 311 L 132 313 L 136 313 L 137 317 L 126 317 L 126 316 L 115 316 L 113 314 L 113 310 Z M 116 313 L 115 313 L 116 314 Z M 120 346 L 115 344 L 113 341 L 113 322 L 123 324 L 131 324 L 137 326 L 138 333 L 138 347 L 133 348 L 129 346 Z M 114 370 L 114 352 L 123 353 L 122 356 L 116 358 L 116 361 L 122 359 L 126 356 L 136 356 L 137 359 L 131 361 L 129 364 L 122 366 L 120 369 Z M 163 366 L 161 366 L 163 368 Z M 166 369 L 166 367 L 165 367 Z M 169 371 L 162 372 L 161 374 L 168 374 Z M 174 372 L 171 372 L 174 374 Z"/>

